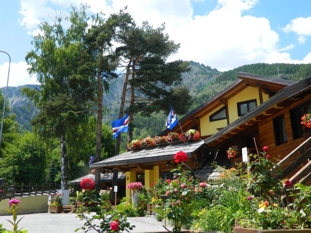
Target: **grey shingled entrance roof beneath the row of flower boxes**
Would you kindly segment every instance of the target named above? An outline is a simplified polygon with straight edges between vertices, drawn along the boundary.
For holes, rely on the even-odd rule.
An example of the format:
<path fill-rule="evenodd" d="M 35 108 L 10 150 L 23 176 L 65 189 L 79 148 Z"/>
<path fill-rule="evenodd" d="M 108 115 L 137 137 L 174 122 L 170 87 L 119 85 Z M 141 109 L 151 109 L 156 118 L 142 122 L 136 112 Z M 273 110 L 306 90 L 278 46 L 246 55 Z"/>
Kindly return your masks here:
<path fill-rule="evenodd" d="M 116 165 L 125 165 L 133 163 L 156 162 L 171 160 L 179 152 L 186 152 L 188 157 L 204 144 L 203 140 L 196 142 L 186 142 L 178 144 L 157 145 L 151 148 L 141 148 L 134 151 L 128 151 L 103 161 L 91 164 L 90 167 L 109 167 Z"/>

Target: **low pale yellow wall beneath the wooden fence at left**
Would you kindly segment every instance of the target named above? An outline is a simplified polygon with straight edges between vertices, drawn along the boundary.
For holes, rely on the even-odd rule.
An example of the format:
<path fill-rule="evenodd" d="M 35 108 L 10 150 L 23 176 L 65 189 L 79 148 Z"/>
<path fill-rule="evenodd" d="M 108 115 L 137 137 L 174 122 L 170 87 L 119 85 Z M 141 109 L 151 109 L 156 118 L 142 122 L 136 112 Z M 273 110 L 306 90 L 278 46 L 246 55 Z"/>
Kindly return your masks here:
<path fill-rule="evenodd" d="M 49 195 L 35 195 L 30 197 L 14 198 L 19 200 L 21 208 L 18 214 L 30 213 L 47 213 L 49 210 L 48 200 Z M 1 200 L 0 202 L 0 216 L 11 215 L 6 209 L 9 209 L 9 199 Z M 12 207 L 10 208 L 12 210 Z M 11 220 L 11 219 L 10 219 Z"/>

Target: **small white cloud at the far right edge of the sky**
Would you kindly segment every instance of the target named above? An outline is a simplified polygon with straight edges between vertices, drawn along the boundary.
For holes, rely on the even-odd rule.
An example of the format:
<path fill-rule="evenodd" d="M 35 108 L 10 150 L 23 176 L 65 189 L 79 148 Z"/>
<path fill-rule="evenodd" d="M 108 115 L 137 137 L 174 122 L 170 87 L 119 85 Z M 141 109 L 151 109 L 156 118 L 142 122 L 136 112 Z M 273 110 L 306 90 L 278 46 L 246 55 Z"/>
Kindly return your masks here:
<path fill-rule="evenodd" d="M 299 36 L 297 40 L 300 44 L 303 44 L 307 39 L 306 37 L 311 36 L 311 17 L 293 19 L 283 28 L 283 31 L 296 33 Z"/>

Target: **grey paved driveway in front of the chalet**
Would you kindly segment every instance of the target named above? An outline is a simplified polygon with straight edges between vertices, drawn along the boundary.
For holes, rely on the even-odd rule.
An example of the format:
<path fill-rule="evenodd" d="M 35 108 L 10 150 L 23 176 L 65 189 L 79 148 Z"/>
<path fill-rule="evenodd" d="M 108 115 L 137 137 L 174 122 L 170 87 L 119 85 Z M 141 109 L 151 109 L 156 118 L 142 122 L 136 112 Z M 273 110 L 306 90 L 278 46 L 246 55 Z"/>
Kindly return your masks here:
<path fill-rule="evenodd" d="M 84 224 L 83 220 L 76 218 L 76 214 L 51 214 L 37 213 L 18 215 L 17 219 L 24 217 L 18 224 L 24 227 L 29 233 L 73 233 L 77 228 Z M 12 230 L 12 225 L 5 221 L 12 220 L 12 216 L 0 216 L 0 223 L 8 230 Z M 136 227 L 131 231 L 133 233 L 144 232 L 165 232 L 162 222 L 158 222 L 154 217 L 131 217 L 128 222 Z M 169 227 L 171 229 L 171 227 Z M 77 231 L 82 233 L 83 231 Z M 95 233 L 96 231 L 89 231 Z"/>

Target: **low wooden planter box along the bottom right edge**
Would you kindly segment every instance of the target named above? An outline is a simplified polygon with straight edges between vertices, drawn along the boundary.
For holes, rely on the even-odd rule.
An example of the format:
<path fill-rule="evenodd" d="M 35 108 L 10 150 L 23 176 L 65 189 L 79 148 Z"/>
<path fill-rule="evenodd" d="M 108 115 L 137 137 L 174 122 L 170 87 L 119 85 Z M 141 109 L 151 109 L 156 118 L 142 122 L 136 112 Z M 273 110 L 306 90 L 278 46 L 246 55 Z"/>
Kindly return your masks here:
<path fill-rule="evenodd" d="M 311 233 L 311 229 L 276 229 L 276 230 L 262 230 L 255 228 L 244 228 L 238 222 L 246 219 L 235 219 L 235 224 L 233 228 L 234 233 Z"/>

